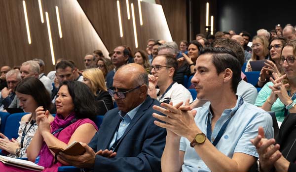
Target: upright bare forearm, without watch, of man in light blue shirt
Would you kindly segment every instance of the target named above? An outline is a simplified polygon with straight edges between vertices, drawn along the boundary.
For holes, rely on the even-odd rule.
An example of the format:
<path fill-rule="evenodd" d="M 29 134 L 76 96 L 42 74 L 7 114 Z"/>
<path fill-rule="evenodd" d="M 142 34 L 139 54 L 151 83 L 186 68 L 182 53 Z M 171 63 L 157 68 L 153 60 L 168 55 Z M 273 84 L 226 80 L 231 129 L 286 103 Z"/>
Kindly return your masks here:
<path fill-rule="evenodd" d="M 180 172 L 181 161 L 179 156 L 180 138 L 166 137 L 166 143 L 161 157 L 161 170 L 163 172 Z"/>

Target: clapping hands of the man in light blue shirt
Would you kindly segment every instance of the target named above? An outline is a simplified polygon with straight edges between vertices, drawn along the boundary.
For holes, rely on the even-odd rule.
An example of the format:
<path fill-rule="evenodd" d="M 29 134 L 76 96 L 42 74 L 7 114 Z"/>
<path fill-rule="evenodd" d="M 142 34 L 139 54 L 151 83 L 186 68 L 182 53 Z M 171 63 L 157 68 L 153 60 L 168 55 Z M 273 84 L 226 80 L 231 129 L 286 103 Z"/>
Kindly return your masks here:
<path fill-rule="evenodd" d="M 170 102 L 170 104 L 161 103 L 160 105 L 161 107 L 154 105 L 153 109 L 166 116 L 158 115 L 156 113 L 153 113 L 152 115 L 166 123 L 155 120 L 154 124 L 166 128 L 168 135 L 180 138 L 182 136 L 188 139 L 190 134 L 192 135 L 192 133 L 196 134 L 197 132 L 201 132 L 195 124 L 194 116 L 196 115 L 196 111 L 191 111 L 192 108 L 189 105 L 189 100 L 186 100 L 184 106 L 182 106 L 183 102 L 180 102 L 175 106 L 173 106 L 172 102 Z"/>

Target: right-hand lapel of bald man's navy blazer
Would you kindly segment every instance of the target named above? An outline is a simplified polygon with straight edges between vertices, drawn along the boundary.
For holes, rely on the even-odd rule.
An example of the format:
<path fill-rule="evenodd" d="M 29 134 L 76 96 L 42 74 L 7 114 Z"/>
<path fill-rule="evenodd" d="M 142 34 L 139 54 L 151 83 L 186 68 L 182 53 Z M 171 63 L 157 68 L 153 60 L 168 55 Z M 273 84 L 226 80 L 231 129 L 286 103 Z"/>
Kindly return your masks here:
<path fill-rule="evenodd" d="M 137 123 L 137 121 L 145 114 L 145 111 L 151 106 L 153 99 L 150 98 L 150 96 L 147 96 L 145 102 L 142 104 L 142 106 L 139 108 L 138 112 L 134 116 L 133 120 L 131 123 L 128 125 L 127 129 L 123 133 L 122 137 L 120 138 L 120 141 L 116 145 L 115 149 L 117 146 L 122 142 L 124 137 L 127 135 L 127 133 L 133 128 L 133 126 Z"/>

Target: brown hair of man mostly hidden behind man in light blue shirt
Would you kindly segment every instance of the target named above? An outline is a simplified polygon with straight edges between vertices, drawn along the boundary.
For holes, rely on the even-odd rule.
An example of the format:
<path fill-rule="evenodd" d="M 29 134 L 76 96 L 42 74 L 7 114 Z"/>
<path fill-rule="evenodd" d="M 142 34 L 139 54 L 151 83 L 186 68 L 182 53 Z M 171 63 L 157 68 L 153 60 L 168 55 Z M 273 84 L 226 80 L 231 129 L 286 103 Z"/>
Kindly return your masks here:
<path fill-rule="evenodd" d="M 217 39 L 217 40 L 215 40 L 213 46 L 214 47 L 225 47 L 225 48 L 232 50 L 236 54 L 236 57 L 239 60 L 240 65 L 241 66 L 244 65 L 245 51 L 244 51 L 243 47 L 235 40 L 227 39 L 227 38 Z"/>

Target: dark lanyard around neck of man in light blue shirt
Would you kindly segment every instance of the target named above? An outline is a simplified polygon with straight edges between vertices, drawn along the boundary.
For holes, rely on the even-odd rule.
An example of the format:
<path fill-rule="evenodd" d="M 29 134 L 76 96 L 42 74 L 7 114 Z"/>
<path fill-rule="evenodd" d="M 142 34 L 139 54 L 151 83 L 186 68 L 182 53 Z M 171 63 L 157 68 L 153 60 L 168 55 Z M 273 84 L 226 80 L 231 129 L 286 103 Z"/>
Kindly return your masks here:
<path fill-rule="evenodd" d="M 214 146 L 216 146 L 218 144 L 218 142 L 220 141 L 220 139 L 222 138 L 222 135 L 225 132 L 225 129 L 230 121 L 230 119 L 232 118 L 232 116 L 234 116 L 234 114 L 236 113 L 236 111 L 242 106 L 242 104 L 244 103 L 243 98 L 240 99 L 238 107 L 235 111 L 232 111 L 230 117 L 227 119 L 227 121 L 222 125 L 222 128 L 220 129 L 220 131 L 218 132 L 217 137 L 215 138 L 214 142 L 212 143 Z M 211 137 L 212 137 L 212 125 L 210 122 L 210 112 L 208 115 L 208 125 L 207 125 L 207 138 L 209 139 L 210 142 L 212 142 Z"/>

